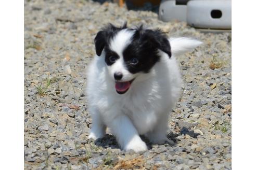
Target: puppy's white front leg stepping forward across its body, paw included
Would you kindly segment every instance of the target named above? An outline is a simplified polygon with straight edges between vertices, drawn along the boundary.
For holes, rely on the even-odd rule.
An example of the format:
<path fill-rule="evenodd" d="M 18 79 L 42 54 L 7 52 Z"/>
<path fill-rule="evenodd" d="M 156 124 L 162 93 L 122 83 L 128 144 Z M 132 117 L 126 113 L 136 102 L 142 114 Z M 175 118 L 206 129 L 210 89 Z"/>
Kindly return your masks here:
<path fill-rule="evenodd" d="M 147 150 L 147 145 L 139 137 L 129 117 L 125 115 L 117 116 L 111 121 L 110 128 L 124 150 L 133 150 L 135 152 Z"/>

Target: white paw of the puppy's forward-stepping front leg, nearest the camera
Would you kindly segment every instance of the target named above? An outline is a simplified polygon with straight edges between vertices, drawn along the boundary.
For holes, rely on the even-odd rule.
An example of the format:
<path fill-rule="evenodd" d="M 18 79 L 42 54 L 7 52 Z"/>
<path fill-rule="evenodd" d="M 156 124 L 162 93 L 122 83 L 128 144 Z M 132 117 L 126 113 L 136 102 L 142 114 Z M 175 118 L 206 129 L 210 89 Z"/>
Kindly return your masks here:
<path fill-rule="evenodd" d="M 148 150 L 147 145 L 145 144 L 140 137 L 136 137 L 135 139 L 131 140 L 125 147 L 125 151 L 133 150 L 134 152 L 146 151 Z"/>

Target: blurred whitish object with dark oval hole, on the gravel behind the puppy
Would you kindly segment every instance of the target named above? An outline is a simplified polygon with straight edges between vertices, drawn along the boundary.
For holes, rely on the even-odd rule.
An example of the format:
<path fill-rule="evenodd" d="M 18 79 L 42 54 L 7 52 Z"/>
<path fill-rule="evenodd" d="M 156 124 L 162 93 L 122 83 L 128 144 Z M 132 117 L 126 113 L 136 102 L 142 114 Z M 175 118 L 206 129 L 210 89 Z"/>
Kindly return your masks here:
<path fill-rule="evenodd" d="M 202 29 L 231 29 L 231 0 L 170 0 L 162 1 L 159 18 L 187 21 Z"/>

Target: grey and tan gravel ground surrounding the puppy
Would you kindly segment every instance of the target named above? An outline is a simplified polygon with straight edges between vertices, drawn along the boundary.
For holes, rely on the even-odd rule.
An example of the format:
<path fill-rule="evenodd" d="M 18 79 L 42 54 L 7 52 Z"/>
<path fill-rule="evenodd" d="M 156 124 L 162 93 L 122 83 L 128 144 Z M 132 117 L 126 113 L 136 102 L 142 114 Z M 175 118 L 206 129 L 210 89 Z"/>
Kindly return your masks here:
<path fill-rule="evenodd" d="M 147 142 L 148 151 L 125 153 L 110 134 L 87 138 L 93 39 L 105 24 L 124 21 L 204 42 L 177 59 L 184 83 L 170 113 L 174 146 Z M 25 1 L 24 23 L 24 169 L 231 169 L 231 33 L 201 33 L 153 12 L 82 0 Z"/>

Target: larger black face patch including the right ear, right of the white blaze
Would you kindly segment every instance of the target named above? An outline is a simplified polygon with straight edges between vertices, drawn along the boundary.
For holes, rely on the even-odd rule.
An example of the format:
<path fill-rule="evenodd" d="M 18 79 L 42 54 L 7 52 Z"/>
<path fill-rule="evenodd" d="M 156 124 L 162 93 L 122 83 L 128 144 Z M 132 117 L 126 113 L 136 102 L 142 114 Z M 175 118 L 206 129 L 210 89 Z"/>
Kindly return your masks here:
<path fill-rule="evenodd" d="M 136 29 L 132 43 L 123 51 L 124 61 L 130 73 L 144 72 L 149 70 L 160 60 L 158 49 L 171 57 L 169 40 L 160 30 L 144 30 L 143 26 Z M 138 64 L 130 64 L 132 58 L 138 59 Z"/>

